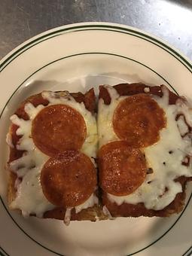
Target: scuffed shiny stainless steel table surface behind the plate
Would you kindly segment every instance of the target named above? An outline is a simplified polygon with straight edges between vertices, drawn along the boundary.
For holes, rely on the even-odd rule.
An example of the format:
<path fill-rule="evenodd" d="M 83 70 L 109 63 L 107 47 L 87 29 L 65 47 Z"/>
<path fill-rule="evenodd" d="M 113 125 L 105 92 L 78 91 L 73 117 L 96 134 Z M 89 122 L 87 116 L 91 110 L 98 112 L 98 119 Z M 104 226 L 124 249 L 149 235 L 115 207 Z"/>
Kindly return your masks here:
<path fill-rule="evenodd" d="M 0 59 L 40 32 L 85 21 L 143 29 L 192 59 L 192 0 L 0 0 Z"/>

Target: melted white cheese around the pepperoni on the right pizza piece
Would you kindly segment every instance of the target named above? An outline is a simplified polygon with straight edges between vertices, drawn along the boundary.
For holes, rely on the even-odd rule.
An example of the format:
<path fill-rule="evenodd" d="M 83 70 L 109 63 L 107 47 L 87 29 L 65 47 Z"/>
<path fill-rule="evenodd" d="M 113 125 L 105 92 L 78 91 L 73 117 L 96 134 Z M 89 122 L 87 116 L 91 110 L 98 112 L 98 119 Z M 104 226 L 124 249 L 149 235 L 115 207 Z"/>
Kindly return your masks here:
<path fill-rule="evenodd" d="M 113 88 L 109 89 L 109 87 L 107 89 L 108 91 L 114 90 Z M 169 92 L 166 87 L 163 87 L 162 98 L 152 97 L 163 108 L 167 120 L 166 128 L 160 131 L 160 140 L 154 145 L 142 148 L 148 166 L 153 169 L 153 173 L 147 175 L 144 183 L 133 194 L 124 197 L 108 194 L 108 199 L 117 203 L 117 205 L 122 203 L 144 203 L 147 209 L 164 209 L 175 199 L 176 194 L 182 191 L 181 184 L 176 182 L 175 178 L 181 175 L 192 176 L 191 163 L 189 166 L 182 165 L 184 157 L 187 154 L 192 154 L 191 138 L 190 136 L 181 137 L 180 130 L 182 130 L 182 133 L 186 131 L 184 120 L 180 119 L 179 123 L 175 121 L 177 114 L 184 114 L 187 123 L 192 126 L 191 109 L 181 100 L 178 100 L 176 105 L 169 105 Z M 102 100 L 99 102 L 99 106 L 102 107 L 99 114 L 109 113 L 107 117 L 99 117 L 99 120 L 106 120 L 108 122 L 107 127 L 110 127 L 110 129 L 112 129 L 114 109 L 120 98 L 114 93 L 111 96 L 110 105 L 102 104 Z M 124 99 L 124 97 L 122 98 Z M 99 123 L 99 126 L 105 125 L 105 123 Z M 114 132 L 111 133 L 113 136 L 108 136 L 109 130 L 106 130 L 106 134 L 104 131 L 104 127 L 99 128 L 101 145 L 115 139 Z M 107 139 L 103 140 L 102 137 L 105 138 L 105 136 Z"/>

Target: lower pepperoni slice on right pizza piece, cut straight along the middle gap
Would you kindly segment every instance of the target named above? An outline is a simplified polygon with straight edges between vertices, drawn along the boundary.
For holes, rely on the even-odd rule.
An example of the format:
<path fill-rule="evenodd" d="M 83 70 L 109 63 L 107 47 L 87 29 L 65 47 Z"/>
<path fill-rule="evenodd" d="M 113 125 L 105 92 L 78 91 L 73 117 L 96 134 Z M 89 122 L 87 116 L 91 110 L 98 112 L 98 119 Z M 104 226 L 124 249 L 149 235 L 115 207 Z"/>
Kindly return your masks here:
<path fill-rule="evenodd" d="M 127 142 L 110 142 L 99 150 L 99 180 L 105 192 L 115 196 L 133 193 L 145 180 L 147 167 L 139 148 Z"/>

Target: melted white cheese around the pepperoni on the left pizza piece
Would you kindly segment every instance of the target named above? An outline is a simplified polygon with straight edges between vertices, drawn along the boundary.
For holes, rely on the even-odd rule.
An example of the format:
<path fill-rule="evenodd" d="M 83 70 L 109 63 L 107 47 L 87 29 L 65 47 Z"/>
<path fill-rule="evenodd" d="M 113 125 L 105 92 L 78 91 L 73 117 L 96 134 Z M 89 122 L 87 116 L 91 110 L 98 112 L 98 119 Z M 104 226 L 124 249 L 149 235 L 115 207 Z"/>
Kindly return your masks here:
<path fill-rule="evenodd" d="M 48 105 L 66 104 L 82 114 L 87 125 L 87 137 L 81 151 L 91 157 L 94 162 L 93 157 L 96 157 L 97 147 L 96 117 L 85 108 L 84 103 L 76 102 L 67 92 L 59 96 L 58 93 L 44 91 L 42 96 L 49 101 Z M 17 149 L 26 151 L 23 157 L 9 164 L 11 171 L 17 173 L 15 183 L 17 195 L 11 203 L 11 208 L 20 209 L 24 216 L 35 214 L 42 217 L 44 212 L 56 207 L 44 197 L 40 182 L 41 169 L 49 157 L 36 148 L 31 138 L 32 120 L 43 108 L 45 108 L 44 105 L 35 107 L 31 103 L 26 103 L 25 111 L 29 115 L 29 120 L 23 120 L 17 117 L 16 114 L 11 117 L 11 122 L 19 126 L 17 135 L 22 136 L 17 144 Z M 20 181 L 20 178 L 22 178 L 22 181 Z M 75 212 L 81 212 L 82 209 L 87 209 L 95 203 L 98 203 L 98 199 L 92 194 L 88 200 L 75 207 Z"/>

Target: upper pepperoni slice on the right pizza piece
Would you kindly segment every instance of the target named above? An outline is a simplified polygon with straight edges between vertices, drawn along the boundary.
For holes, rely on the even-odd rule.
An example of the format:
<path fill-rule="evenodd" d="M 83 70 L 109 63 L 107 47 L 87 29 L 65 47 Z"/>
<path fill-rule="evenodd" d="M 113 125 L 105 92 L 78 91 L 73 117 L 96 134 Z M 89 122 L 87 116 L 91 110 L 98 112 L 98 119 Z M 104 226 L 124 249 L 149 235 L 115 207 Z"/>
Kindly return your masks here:
<path fill-rule="evenodd" d="M 133 147 L 147 147 L 160 139 L 160 130 L 166 126 L 162 108 L 146 94 L 123 99 L 113 116 L 114 133 Z"/>

